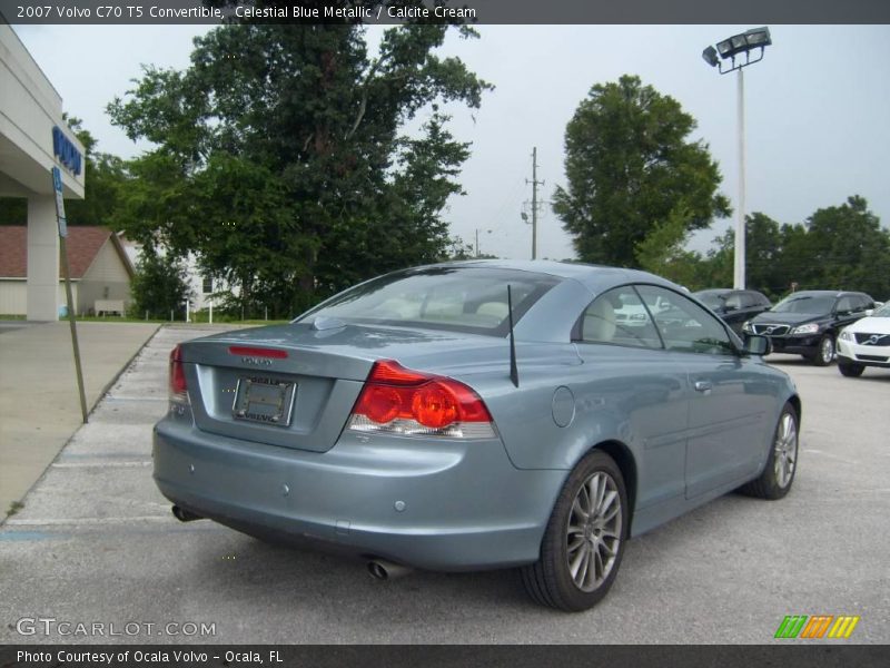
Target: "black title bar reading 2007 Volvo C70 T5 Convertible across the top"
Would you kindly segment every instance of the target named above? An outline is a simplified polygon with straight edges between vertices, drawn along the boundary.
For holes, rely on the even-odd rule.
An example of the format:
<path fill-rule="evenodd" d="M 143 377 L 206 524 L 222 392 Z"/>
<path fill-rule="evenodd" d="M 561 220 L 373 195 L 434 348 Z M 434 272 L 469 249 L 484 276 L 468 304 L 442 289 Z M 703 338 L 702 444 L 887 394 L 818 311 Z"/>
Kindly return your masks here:
<path fill-rule="evenodd" d="M 0 22 L 890 23 L 888 0 L 0 0 Z"/>

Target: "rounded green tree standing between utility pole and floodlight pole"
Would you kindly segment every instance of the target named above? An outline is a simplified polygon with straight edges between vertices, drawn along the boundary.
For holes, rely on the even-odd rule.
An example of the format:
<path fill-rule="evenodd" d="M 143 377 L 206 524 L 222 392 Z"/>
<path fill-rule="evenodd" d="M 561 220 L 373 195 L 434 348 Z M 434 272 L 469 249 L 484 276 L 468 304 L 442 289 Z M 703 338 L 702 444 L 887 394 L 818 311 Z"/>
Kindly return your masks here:
<path fill-rule="evenodd" d="M 639 266 L 637 244 L 679 205 L 685 230 L 729 215 L 708 146 L 686 139 L 694 129 L 676 100 L 639 77 L 591 88 L 565 129 L 567 186 L 553 205 L 582 261 Z"/>

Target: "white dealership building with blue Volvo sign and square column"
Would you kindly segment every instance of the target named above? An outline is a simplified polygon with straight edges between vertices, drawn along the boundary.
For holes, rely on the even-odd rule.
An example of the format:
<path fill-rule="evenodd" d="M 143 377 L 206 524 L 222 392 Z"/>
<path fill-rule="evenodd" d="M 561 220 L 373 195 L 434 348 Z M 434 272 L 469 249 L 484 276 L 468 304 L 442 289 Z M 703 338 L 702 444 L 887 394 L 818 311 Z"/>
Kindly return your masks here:
<path fill-rule="evenodd" d="M 60 58 L 68 58 L 60 48 Z M 0 197 L 28 199 L 27 317 L 59 317 L 59 232 L 52 167 L 67 198 L 82 199 L 83 146 L 62 120 L 62 99 L 14 31 L 0 22 Z"/>

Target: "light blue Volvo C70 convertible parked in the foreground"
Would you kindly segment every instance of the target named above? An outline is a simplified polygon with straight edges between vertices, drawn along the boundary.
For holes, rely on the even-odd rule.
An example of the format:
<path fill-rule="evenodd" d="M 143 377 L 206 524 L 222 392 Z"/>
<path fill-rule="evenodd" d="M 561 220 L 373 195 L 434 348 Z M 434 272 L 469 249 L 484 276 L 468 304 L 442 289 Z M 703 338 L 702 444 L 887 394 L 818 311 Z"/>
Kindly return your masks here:
<path fill-rule="evenodd" d="M 518 567 L 533 599 L 583 610 L 630 538 L 740 487 L 788 493 L 801 403 L 768 344 L 643 272 L 400 271 L 178 345 L 155 480 L 184 521 L 346 550 L 378 578 Z"/>

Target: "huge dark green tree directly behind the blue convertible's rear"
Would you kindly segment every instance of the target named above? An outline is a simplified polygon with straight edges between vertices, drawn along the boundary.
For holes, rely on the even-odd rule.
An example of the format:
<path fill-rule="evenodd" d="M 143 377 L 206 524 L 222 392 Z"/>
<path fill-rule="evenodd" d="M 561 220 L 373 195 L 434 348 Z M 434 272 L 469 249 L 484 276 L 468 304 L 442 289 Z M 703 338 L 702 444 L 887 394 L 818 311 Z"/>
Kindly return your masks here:
<path fill-rule="evenodd" d="M 437 104 L 475 108 L 491 88 L 434 53 L 447 28 L 387 30 L 372 59 L 358 24 L 227 24 L 189 69 L 146 69 L 109 106 L 157 145 L 131 166 L 128 235 L 194 250 L 275 314 L 444 254 L 468 147 Z M 422 112 L 422 136 L 403 136 Z"/>

